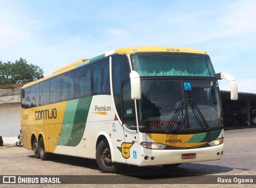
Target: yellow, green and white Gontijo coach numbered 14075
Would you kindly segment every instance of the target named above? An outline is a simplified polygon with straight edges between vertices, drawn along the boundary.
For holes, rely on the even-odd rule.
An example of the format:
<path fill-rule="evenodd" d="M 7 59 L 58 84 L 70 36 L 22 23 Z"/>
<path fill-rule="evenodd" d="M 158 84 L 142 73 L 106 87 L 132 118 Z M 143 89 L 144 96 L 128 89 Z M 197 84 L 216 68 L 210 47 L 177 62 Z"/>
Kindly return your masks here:
<path fill-rule="evenodd" d="M 41 160 L 96 159 L 108 173 L 220 160 L 218 79 L 236 100 L 234 77 L 216 74 L 204 51 L 138 46 L 80 59 L 22 87 L 23 145 Z"/>

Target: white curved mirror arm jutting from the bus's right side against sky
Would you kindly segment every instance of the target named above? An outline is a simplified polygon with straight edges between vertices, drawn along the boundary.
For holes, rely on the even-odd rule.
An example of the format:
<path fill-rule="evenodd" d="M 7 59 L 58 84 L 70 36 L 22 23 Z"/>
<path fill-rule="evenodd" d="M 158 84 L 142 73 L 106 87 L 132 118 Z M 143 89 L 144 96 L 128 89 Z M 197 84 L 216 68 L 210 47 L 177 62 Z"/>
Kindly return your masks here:
<path fill-rule="evenodd" d="M 238 99 L 238 90 L 237 90 L 237 84 L 234 77 L 228 73 L 217 73 L 216 74 L 217 79 L 225 79 L 228 81 L 229 87 L 230 87 L 230 99 L 231 100 L 237 100 Z"/>

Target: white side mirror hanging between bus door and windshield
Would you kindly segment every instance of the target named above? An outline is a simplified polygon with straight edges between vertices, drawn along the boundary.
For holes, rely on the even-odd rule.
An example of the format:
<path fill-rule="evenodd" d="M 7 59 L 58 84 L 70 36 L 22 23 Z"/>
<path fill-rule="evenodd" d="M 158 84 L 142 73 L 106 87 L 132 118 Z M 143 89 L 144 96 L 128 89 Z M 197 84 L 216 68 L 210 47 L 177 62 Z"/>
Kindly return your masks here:
<path fill-rule="evenodd" d="M 140 99 L 140 75 L 136 71 L 131 71 L 131 98 L 132 100 Z"/>

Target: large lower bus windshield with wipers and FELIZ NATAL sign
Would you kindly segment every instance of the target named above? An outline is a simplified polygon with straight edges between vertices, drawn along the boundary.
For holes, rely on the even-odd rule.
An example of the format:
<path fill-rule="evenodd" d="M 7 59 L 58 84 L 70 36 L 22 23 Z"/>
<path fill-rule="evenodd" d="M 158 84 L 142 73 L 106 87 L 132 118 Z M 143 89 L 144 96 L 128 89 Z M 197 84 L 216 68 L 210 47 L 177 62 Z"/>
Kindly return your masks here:
<path fill-rule="evenodd" d="M 141 88 L 142 132 L 206 131 L 222 126 L 216 80 L 142 79 Z"/>

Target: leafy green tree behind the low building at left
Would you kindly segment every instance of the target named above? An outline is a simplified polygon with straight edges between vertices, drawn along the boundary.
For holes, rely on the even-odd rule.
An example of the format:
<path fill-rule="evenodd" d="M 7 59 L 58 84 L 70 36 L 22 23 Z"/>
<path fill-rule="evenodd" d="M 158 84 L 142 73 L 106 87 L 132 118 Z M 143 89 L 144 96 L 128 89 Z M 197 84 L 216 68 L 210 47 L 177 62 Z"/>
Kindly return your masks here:
<path fill-rule="evenodd" d="M 0 85 L 28 83 L 44 77 L 40 67 L 28 64 L 26 59 L 20 58 L 15 63 L 0 61 Z"/>

